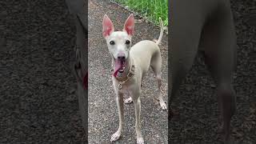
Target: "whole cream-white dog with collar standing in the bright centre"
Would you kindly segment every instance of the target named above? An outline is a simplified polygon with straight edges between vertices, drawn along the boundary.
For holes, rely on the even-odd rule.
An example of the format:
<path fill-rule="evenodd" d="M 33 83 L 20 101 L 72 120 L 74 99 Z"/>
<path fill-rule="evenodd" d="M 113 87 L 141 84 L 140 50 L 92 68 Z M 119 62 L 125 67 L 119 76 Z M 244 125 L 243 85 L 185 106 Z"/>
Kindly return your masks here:
<path fill-rule="evenodd" d="M 117 95 L 117 105 L 119 114 L 119 128 L 112 135 L 111 142 L 120 138 L 122 133 L 122 126 L 124 121 L 123 111 L 123 95 L 127 93 L 130 98 L 126 99 L 126 103 L 134 102 L 135 110 L 135 130 L 137 135 L 137 143 L 143 144 L 141 132 L 141 101 L 140 96 L 142 93 L 141 84 L 142 78 L 151 67 L 154 71 L 155 78 L 158 82 L 158 98 L 162 110 L 166 110 L 166 103 L 162 99 L 161 94 L 161 66 L 162 58 L 158 44 L 162 40 L 162 20 L 161 32 L 157 42 L 144 40 L 138 42 L 131 47 L 131 38 L 134 34 L 134 15 L 130 14 L 126 19 L 122 31 L 114 31 L 113 23 L 106 15 L 103 18 L 103 36 L 106 39 L 107 47 L 112 57 L 113 74 L 112 81 L 114 92 Z"/>

